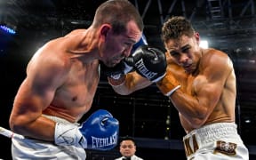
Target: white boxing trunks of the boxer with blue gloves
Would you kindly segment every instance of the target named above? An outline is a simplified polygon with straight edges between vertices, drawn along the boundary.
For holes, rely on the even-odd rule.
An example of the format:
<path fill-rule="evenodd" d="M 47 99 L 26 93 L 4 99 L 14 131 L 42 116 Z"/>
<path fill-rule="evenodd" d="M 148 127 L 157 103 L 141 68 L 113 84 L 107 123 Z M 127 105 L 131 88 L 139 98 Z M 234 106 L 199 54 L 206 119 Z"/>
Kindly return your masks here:
<path fill-rule="evenodd" d="M 55 122 L 70 124 L 67 120 L 56 116 L 46 116 Z M 12 138 L 13 160 L 84 160 L 84 148 L 75 146 L 57 146 L 53 142 L 25 138 Z"/>

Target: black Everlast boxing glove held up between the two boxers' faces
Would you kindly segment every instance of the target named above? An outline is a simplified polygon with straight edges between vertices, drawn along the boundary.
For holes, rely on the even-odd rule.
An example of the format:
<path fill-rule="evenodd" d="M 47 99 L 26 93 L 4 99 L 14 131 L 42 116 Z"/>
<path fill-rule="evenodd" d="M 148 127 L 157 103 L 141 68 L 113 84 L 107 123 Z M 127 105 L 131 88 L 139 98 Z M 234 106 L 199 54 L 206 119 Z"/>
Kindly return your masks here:
<path fill-rule="evenodd" d="M 132 53 L 132 56 L 124 60 L 129 66 L 133 66 L 140 76 L 154 83 L 161 80 L 166 72 L 165 54 L 155 47 L 141 45 Z"/>

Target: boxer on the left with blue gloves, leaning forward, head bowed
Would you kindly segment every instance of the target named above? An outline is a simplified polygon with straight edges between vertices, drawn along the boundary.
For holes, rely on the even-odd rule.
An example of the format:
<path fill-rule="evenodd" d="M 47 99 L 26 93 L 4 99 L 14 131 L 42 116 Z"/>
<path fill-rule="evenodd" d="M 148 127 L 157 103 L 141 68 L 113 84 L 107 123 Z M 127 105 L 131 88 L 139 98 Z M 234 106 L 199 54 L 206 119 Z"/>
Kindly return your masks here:
<path fill-rule="evenodd" d="M 129 12 L 127 14 L 127 12 Z M 100 109 L 77 124 L 91 106 L 100 63 L 115 67 L 128 57 L 143 31 L 128 0 L 108 0 L 92 25 L 44 44 L 29 60 L 10 116 L 13 159 L 85 159 L 84 148 L 114 148 L 118 121 Z"/>

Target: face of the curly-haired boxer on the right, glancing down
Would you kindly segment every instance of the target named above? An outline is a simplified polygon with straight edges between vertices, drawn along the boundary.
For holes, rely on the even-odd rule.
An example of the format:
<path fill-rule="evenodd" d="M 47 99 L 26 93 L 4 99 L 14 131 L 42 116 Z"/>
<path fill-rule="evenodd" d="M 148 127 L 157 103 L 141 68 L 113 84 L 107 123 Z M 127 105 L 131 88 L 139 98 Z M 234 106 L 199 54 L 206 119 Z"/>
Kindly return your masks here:
<path fill-rule="evenodd" d="M 193 73 L 202 55 L 198 42 L 199 37 L 197 38 L 197 36 L 183 35 L 179 39 L 170 39 L 164 45 L 172 56 L 172 60 L 184 68 L 187 73 Z"/>

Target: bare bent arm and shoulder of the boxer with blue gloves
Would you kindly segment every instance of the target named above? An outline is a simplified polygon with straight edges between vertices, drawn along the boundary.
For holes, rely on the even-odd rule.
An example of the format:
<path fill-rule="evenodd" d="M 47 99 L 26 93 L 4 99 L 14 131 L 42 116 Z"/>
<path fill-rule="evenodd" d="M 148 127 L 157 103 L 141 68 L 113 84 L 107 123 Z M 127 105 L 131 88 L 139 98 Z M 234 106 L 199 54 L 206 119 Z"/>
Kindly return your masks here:
<path fill-rule="evenodd" d="M 65 64 L 51 52 L 52 49 L 46 46 L 30 60 L 27 77 L 17 92 L 9 121 L 13 132 L 40 140 L 54 140 L 55 123 L 42 116 L 42 111 L 52 102 L 67 72 Z"/>

